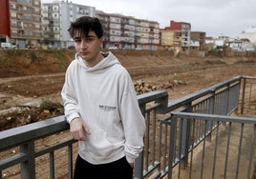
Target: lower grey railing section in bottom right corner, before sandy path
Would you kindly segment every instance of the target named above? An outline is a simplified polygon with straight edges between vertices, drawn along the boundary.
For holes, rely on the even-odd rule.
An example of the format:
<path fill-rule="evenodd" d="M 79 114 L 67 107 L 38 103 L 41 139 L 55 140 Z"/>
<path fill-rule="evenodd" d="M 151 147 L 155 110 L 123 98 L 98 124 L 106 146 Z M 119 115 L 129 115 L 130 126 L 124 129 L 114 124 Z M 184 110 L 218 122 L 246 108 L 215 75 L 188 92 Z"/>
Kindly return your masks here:
<path fill-rule="evenodd" d="M 172 148 L 166 151 L 168 163 L 162 176 L 252 179 L 256 162 L 255 118 L 173 112 L 160 123 L 164 136 L 170 137 L 164 148 Z M 209 123 L 215 124 L 215 130 L 207 129 Z M 209 140 L 209 135 L 214 135 L 214 140 Z"/>

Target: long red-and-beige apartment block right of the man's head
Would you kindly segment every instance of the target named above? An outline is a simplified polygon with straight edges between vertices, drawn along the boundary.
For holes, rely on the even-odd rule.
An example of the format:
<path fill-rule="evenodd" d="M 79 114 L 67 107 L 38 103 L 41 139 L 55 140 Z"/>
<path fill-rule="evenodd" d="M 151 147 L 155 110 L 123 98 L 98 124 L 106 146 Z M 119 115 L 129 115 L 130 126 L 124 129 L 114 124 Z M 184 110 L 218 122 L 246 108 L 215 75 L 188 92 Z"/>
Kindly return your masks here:
<path fill-rule="evenodd" d="M 105 49 L 157 50 L 160 44 L 158 22 L 137 19 L 97 10 L 96 16 L 104 29 Z"/>

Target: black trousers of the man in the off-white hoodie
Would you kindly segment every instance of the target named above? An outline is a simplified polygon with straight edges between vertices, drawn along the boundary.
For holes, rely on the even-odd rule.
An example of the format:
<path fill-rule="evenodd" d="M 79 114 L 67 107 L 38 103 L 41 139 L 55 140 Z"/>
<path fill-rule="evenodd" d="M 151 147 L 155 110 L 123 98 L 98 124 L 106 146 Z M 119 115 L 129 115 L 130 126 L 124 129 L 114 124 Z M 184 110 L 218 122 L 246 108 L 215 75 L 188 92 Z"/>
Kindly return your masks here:
<path fill-rule="evenodd" d="M 108 164 L 93 165 L 79 155 L 75 161 L 74 179 L 132 179 L 133 169 L 123 157 Z"/>

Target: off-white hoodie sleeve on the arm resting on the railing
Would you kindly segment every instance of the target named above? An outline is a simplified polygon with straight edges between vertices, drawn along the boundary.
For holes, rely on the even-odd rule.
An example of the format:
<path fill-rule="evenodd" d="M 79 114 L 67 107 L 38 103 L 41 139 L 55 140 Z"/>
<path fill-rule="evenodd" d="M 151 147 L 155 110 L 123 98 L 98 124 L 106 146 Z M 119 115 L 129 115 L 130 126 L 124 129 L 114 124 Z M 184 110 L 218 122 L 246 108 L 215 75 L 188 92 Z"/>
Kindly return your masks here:
<path fill-rule="evenodd" d="M 61 90 L 61 97 L 64 104 L 65 116 L 68 123 L 76 117 L 80 117 L 77 98 L 72 80 L 71 67 L 66 71 L 65 82 Z"/>

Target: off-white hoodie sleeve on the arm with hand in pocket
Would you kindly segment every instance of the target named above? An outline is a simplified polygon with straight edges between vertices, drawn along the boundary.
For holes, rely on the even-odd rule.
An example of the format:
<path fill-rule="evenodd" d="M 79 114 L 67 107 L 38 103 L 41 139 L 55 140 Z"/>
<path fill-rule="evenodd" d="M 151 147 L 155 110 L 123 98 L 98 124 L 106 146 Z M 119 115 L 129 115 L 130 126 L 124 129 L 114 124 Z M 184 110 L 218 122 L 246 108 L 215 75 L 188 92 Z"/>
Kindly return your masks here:
<path fill-rule="evenodd" d="M 134 163 L 143 149 L 145 119 L 139 109 L 137 94 L 128 72 L 122 84 L 120 116 L 125 135 L 125 156 L 129 163 Z"/>

